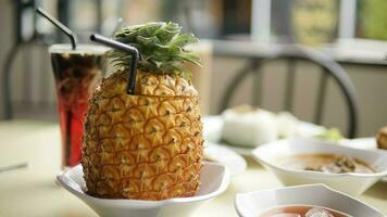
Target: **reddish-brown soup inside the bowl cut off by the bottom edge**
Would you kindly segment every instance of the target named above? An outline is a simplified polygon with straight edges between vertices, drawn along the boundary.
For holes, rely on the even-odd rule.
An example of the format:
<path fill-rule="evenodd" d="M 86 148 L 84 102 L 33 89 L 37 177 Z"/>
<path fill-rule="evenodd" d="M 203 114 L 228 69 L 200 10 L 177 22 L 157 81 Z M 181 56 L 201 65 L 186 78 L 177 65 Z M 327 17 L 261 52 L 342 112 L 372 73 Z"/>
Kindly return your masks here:
<path fill-rule="evenodd" d="M 321 207 L 321 206 L 309 206 L 309 205 L 287 205 L 270 208 L 259 217 L 350 217 L 348 214 L 341 212 Z"/>

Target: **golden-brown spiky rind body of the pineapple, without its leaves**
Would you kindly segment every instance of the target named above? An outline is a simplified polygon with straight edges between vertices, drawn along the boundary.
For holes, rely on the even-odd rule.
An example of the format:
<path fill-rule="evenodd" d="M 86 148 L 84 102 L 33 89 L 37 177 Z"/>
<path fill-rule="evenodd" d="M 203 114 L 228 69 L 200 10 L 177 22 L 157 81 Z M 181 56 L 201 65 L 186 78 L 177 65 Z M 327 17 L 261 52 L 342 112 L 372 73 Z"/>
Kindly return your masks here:
<path fill-rule="evenodd" d="M 88 193 L 105 199 L 192 196 L 203 158 L 198 93 L 173 75 L 127 72 L 103 79 L 89 101 L 83 138 Z"/>

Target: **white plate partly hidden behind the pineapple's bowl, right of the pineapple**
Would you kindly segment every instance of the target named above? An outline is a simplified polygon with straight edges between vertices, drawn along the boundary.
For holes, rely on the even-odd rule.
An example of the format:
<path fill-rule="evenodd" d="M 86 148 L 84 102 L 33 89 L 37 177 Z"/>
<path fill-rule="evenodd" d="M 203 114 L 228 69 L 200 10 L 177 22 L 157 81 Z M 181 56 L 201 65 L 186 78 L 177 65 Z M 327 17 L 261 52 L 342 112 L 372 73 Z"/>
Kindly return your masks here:
<path fill-rule="evenodd" d="M 204 157 L 227 166 L 232 176 L 238 175 L 247 168 L 247 163 L 242 156 L 225 146 L 209 141 L 204 142 Z"/>

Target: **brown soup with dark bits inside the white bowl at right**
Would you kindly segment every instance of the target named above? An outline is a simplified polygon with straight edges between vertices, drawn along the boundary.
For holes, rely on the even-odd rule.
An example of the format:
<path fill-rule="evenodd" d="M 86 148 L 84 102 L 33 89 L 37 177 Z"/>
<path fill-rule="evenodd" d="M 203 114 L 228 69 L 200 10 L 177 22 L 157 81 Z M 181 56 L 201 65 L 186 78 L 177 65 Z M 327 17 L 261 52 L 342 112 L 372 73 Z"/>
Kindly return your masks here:
<path fill-rule="evenodd" d="M 328 174 L 373 174 L 375 169 L 367 163 L 339 154 L 297 154 L 277 159 L 279 166 L 289 169 L 312 170 Z"/>

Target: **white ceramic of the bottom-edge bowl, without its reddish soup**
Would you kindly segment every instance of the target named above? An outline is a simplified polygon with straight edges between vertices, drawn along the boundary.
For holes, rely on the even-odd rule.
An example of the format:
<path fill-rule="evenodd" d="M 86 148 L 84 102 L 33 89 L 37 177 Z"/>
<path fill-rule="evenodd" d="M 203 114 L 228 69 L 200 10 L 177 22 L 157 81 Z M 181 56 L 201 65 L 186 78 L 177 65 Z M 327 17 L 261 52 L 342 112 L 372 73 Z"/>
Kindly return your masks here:
<path fill-rule="evenodd" d="M 312 205 L 332 208 L 353 217 L 383 217 L 377 209 L 325 184 L 308 184 L 280 189 L 238 193 L 235 207 L 239 216 L 258 217 L 272 207 Z"/>

